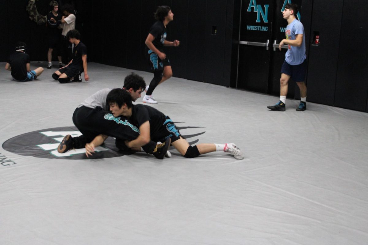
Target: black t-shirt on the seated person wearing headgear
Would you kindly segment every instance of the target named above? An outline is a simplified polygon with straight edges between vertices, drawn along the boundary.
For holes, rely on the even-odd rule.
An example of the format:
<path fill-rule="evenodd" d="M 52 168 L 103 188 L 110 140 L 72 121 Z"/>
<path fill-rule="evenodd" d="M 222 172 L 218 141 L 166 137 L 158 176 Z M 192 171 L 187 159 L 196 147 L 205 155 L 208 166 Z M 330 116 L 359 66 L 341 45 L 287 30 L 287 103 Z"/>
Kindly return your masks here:
<path fill-rule="evenodd" d="M 27 78 L 27 66 L 29 63 L 29 55 L 21 51 L 11 54 L 8 60 L 11 67 L 11 76 L 17 80 L 25 80 Z"/>

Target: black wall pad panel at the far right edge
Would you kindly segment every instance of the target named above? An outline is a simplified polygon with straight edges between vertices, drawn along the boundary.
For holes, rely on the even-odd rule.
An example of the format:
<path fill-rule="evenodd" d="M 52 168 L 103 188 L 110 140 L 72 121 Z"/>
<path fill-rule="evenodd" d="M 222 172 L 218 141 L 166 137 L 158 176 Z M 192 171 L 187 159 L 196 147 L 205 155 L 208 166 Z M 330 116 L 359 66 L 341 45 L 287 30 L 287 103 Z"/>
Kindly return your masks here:
<path fill-rule="evenodd" d="M 335 105 L 367 111 L 368 2 L 344 0 Z"/>

